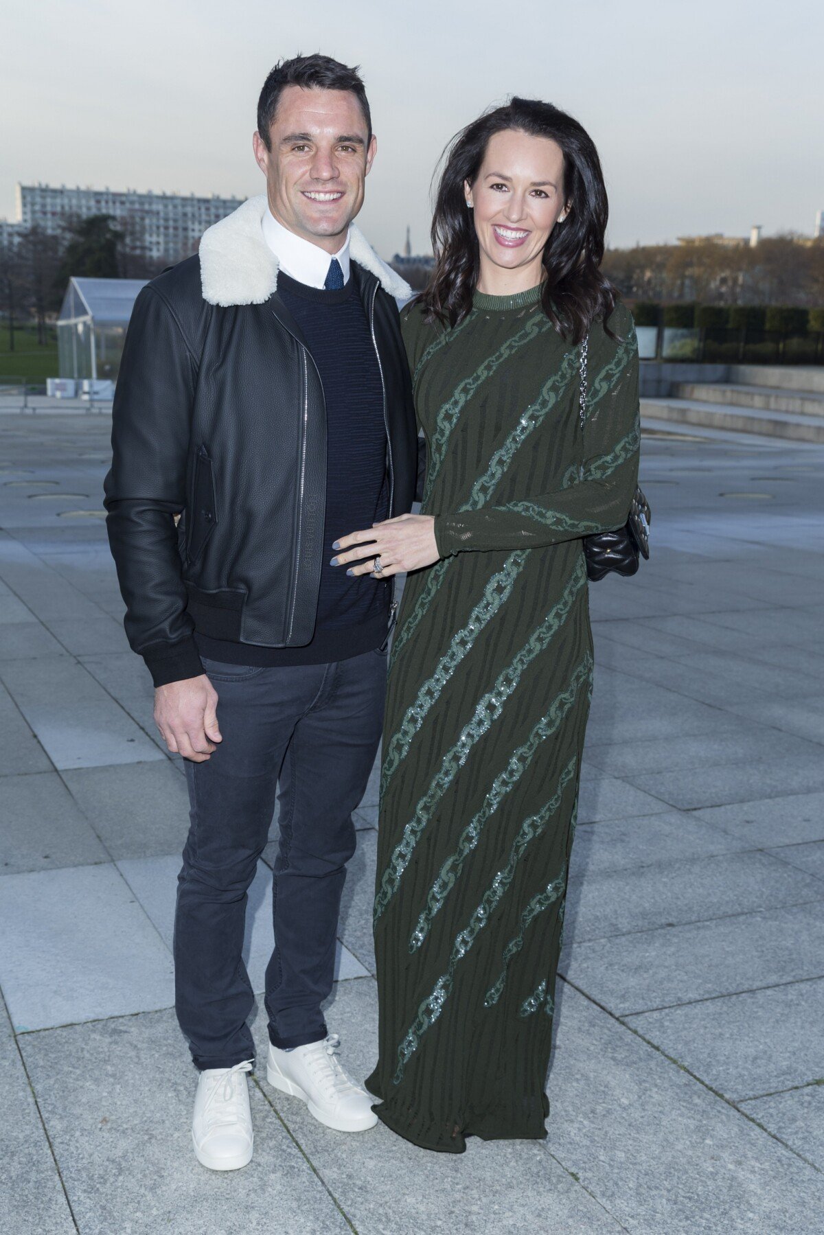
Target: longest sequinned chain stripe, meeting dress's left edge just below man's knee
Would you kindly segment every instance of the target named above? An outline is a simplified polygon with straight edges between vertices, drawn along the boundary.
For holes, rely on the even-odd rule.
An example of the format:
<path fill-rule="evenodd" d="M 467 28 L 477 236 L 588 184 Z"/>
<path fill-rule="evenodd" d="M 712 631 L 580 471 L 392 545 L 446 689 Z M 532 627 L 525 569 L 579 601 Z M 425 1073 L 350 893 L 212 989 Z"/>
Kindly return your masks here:
<path fill-rule="evenodd" d="M 432 777 L 429 789 L 418 803 L 415 814 L 404 827 L 403 835 L 395 845 L 392 857 L 389 858 L 387 869 L 383 872 L 380 884 L 374 898 L 373 918 L 376 923 L 397 892 L 400 877 L 409 865 L 414 848 L 424 832 L 435 806 L 452 784 L 452 781 L 455 779 L 458 769 L 466 762 L 474 743 L 488 732 L 493 721 L 498 720 L 500 716 L 503 706 L 520 682 L 524 669 L 540 652 L 544 651 L 556 630 L 567 618 L 576 595 L 581 593 L 582 588 L 586 587 L 586 583 L 587 567 L 583 557 L 579 557 L 576 562 L 572 577 L 568 580 L 563 595 L 558 600 L 557 605 L 553 605 L 545 621 L 532 632 L 520 651 L 515 653 L 507 668 L 498 674 L 492 690 L 488 690 L 481 697 L 476 704 L 472 720 L 463 726 L 458 740 L 445 753 L 440 771 Z M 589 658 L 589 663 L 592 663 L 592 658 Z M 581 666 L 576 673 L 578 672 L 581 672 Z M 556 700 L 557 705 L 560 705 L 560 699 L 562 698 L 562 695 L 558 697 L 558 700 Z M 552 709 L 550 709 L 550 713 L 551 710 Z M 547 718 L 545 718 L 542 722 L 545 722 L 546 719 Z M 535 730 L 532 730 L 532 732 L 535 732 Z M 510 760 L 509 767 L 513 766 L 513 762 L 516 762 L 515 755 Z M 503 774 L 504 773 L 502 773 L 502 776 Z"/>

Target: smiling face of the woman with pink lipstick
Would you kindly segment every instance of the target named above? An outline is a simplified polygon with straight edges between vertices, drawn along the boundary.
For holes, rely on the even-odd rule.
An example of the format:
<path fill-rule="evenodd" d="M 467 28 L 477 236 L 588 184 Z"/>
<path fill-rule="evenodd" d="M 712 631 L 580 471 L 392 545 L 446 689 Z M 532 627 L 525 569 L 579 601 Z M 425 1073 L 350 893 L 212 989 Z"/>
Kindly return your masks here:
<path fill-rule="evenodd" d="M 558 219 L 566 217 L 563 153 L 557 142 L 514 128 L 494 133 L 474 184 L 467 180 L 463 188 L 473 207 L 482 279 L 484 264 L 492 262 L 511 272 L 535 266 L 535 283 L 540 282 L 544 246 Z"/>

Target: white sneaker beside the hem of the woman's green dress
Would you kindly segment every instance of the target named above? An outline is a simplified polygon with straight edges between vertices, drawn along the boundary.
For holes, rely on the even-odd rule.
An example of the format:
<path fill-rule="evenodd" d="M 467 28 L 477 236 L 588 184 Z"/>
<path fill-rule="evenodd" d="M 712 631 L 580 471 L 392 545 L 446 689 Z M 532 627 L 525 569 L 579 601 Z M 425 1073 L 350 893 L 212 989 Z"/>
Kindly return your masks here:
<path fill-rule="evenodd" d="M 341 1040 L 330 1034 L 319 1042 L 282 1051 L 269 1042 L 266 1079 L 282 1093 L 300 1098 L 327 1128 L 337 1132 L 364 1132 L 378 1116 L 374 1099 L 347 1077 L 337 1058 Z"/>

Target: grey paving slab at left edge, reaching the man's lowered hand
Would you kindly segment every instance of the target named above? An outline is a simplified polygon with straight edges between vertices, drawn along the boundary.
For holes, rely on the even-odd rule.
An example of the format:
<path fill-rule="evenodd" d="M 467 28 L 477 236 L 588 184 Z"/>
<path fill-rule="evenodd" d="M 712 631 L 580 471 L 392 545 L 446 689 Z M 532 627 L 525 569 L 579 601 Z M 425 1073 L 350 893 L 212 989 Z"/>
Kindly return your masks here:
<path fill-rule="evenodd" d="M 163 758 L 157 745 L 77 661 L 5 661 L 0 674 L 56 767 Z"/>

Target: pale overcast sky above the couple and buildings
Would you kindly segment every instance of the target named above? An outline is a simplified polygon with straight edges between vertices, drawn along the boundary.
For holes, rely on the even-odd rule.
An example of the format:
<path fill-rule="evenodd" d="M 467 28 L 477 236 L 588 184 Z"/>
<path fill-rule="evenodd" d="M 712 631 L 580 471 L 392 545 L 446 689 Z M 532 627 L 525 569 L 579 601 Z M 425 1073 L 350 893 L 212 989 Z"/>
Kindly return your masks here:
<path fill-rule="evenodd" d="M 359 63 L 378 135 L 359 224 L 429 251 L 451 135 L 508 94 L 595 140 L 608 242 L 812 232 L 824 206 L 818 0 L 37 0 L 4 15 L 0 216 L 15 182 L 246 196 L 282 56 Z"/>

